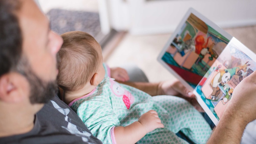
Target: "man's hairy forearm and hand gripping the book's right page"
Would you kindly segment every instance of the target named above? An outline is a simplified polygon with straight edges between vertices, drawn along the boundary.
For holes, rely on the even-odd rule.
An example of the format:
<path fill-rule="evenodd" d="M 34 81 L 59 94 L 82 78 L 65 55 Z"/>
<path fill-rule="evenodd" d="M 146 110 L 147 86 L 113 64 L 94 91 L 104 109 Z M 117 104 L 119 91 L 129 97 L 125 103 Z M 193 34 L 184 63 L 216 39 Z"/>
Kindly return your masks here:
<path fill-rule="evenodd" d="M 246 125 L 256 119 L 256 71 L 239 83 L 208 144 L 240 143 Z"/>

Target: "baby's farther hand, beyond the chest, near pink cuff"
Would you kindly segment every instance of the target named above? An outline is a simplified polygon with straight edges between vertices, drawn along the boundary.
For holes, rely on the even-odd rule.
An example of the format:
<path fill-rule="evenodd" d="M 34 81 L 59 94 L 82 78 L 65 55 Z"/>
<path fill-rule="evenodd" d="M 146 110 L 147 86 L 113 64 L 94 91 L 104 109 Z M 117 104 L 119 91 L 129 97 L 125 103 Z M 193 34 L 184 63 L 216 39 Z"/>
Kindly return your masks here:
<path fill-rule="evenodd" d="M 122 81 L 122 82 L 129 80 L 127 71 L 120 67 L 110 68 L 110 77 L 114 78 L 115 80 Z"/>

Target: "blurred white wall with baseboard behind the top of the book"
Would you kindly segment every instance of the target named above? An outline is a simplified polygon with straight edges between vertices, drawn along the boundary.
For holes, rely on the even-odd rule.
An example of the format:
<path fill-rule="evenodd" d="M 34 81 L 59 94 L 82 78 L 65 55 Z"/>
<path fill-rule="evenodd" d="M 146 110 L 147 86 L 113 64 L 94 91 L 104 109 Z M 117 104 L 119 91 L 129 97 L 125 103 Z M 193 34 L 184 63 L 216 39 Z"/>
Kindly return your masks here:
<path fill-rule="evenodd" d="M 110 26 L 131 34 L 173 32 L 189 7 L 222 28 L 256 25 L 256 0 L 108 0 Z"/>

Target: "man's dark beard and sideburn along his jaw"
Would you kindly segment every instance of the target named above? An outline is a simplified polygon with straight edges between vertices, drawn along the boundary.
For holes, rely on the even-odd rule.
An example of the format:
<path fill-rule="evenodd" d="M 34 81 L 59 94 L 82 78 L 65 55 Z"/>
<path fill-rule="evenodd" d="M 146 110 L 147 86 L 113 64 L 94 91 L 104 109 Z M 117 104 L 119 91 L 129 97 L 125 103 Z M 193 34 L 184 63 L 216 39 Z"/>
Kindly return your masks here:
<path fill-rule="evenodd" d="M 21 58 L 17 70 L 29 81 L 31 104 L 47 103 L 58 91 L 56 80 L 46 82 L 40 79 L 29 65 L 27 58 Z"/>

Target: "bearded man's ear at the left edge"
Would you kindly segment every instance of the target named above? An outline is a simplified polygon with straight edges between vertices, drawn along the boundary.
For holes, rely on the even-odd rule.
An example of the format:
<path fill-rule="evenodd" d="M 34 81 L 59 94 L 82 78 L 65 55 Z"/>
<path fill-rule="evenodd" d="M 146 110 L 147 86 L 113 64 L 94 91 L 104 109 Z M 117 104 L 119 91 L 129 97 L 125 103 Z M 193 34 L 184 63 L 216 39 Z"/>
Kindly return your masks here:
<path fill-rule="evenodd" d="M 19 102 L 29 95 L 29 85 L 25 77 L 17 73 L 8 73 L 0 77 L 0 100 Z"/>

